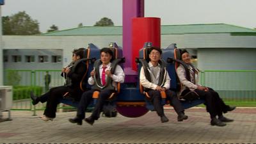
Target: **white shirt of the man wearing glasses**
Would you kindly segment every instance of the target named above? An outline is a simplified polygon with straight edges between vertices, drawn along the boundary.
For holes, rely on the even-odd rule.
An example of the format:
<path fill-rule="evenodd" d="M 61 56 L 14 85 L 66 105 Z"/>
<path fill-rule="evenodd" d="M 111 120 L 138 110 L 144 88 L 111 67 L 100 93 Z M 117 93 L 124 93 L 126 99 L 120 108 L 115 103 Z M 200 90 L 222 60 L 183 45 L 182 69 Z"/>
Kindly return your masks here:
<path fill-rule="evenodd" d="M 148 66 L 150 68 L 149 72 L 150 72 L 150 78 L 151 78 L 152 82 L 148 81 L 148 79 L 145 76 L 144 68 L 141 67 L 140 83 L 145 88 L 150 88 L 152 90 L 156 90 L 156 87 L 158 86 L 157 84 L 159 83 L 161 67 L 160 67 L 159 63 L 156 67 L 154 67 L 151 62 L 148 63 Z M 155 72 L 153 72 L 153 71 L 155 71 Z M 154 76 L 153 73 L 156 73 L 157 75 Z M 170 88 L 170 81 L 171 81 L 170 76 L 169 76 L 168 72 L 166 71 L 166 77 L 165 77 L 164 86 L 163 86 L 164 88 L 166 88 L 166 90 L 168 90 Z"/>

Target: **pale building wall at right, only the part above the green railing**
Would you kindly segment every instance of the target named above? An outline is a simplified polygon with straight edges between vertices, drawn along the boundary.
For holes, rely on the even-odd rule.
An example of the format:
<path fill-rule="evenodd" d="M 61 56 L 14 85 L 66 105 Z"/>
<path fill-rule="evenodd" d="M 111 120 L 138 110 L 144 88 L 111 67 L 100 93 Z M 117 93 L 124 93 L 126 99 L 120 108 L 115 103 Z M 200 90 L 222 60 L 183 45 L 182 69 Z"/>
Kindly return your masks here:
<path fill-rule="evenodd" d="M 256 70 L 256 49 L 198 49 L 197 58 L 201 70 Z"/>

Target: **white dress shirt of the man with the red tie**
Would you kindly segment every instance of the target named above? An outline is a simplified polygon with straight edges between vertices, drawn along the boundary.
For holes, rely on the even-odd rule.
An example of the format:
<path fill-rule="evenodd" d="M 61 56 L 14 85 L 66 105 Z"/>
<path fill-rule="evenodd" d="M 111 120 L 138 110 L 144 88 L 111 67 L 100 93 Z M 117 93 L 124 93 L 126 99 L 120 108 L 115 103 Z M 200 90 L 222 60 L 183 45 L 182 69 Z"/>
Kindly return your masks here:
<path fill-rule="evenodd" d="M 108 63 L 106 70 L 110 70 L 110 66 L 111 66 L 111 63 Z M 99 66 L 99 73 L 100 73 L 100 82 L 101 82 L 101 84 L 102 84 L 102 81 L 101 81 L 102 71 L 103 71 L 103 65 L 100 65 Z M 124 70 L 122 69 L 122 67 L 120 67 L 120 65 L 116 65 L 115 72 L 112 76 L 113 76 L 112 77 L 112 80 L 113 80 L 112 84 L 113 84 L 113 86 L 115 86 L 115 88 L 117 86 L 116 83 L 124 83 L 125 74 L 124 74 Z M 106 74 L 106 79 L 107 79 L 107 74 Z M 106 82 L 107 82 L 107 80 L 106 80 Z M 94 83 L 95 83 L 95 81 L 94 81 L 93 77 L 92 76 L 89 77 L 88 84 L 93 85 Z"/>

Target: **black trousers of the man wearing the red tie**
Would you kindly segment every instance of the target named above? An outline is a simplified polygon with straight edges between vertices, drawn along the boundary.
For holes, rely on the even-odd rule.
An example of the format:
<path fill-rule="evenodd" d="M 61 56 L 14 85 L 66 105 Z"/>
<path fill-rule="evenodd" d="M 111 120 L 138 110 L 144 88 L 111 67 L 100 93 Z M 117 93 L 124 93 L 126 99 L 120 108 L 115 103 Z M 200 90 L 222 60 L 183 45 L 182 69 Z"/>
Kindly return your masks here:
<path fill-rule="evenodd" d="M 85 118 L 86 108 L 89 106 L 90 102 L 92 102 L 92 95 L 95 90 L 89 90 L 88 92 L 84 92 L 81 100 L 79 102 L 77 108 L 77 117 L 83 119 Z M 111 93 L 115 92 L 115 90 L 102 90 L 99 93 L 99 99 L 97 100 L 97 104 L 95 104 L 94 109 L 92 111 L 92 118 L 94 120 L 98 120 L 100 117 L 100 112 L 102 111 L 104 102 L 108 99 Z"/>

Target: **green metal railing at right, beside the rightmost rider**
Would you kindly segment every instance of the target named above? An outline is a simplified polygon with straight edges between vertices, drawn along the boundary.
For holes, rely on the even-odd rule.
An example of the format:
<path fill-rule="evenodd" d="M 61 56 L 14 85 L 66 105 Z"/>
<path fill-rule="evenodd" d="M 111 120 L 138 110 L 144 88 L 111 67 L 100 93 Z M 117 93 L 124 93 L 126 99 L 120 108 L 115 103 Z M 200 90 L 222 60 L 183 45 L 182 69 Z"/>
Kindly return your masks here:
<path fill-rule="evenodd" d="M 223 99 L 256 101 L 256 70 L 204 70 L 200 83 Z"/>

